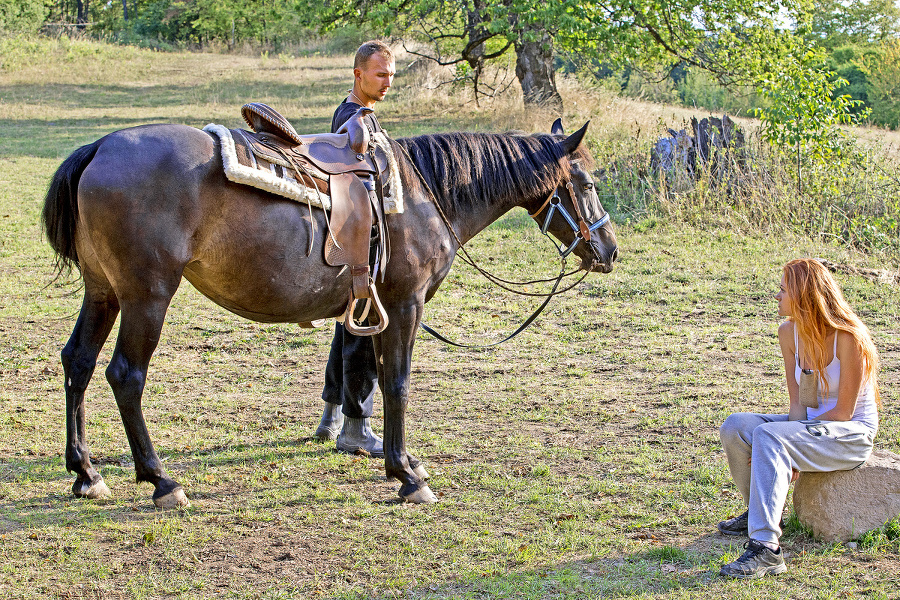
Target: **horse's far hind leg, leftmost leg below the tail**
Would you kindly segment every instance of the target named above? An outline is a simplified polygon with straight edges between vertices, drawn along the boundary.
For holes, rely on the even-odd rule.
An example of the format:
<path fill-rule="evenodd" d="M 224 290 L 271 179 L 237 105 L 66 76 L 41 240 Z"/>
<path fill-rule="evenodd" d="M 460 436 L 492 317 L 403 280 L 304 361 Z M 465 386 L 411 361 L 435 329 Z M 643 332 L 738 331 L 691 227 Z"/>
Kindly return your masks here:
<path fill-rule="evenodd" d="M 102 498 L 109 495 L 103 477 L 91 465 L 87 446 L 84 393 L 97 365 L 119 306 L 108 286 L 94 284 L 85 276 L 84 302 L 69 342 L 62 351 L 66 390 L 66 469 L 74 472 L 72 493 L 80 498 Z"/>

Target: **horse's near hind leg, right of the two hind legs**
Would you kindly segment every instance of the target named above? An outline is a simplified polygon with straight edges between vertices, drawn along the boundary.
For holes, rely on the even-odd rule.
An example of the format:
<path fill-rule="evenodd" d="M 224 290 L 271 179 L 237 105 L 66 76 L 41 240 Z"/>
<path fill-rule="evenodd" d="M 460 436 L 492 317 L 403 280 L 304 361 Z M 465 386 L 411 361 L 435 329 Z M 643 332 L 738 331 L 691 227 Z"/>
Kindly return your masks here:
<path fill-rule="evenodd" d="M 147 431 L 141 410 L 141 397 L 147 381 L 150 357 L 159 343 L 169 301 L 178 287 L 177 282 L 172 286 L 161 281 L 155 284 L 159 288 L 170 289 L 161 295 L 157 293 L 139 301 L 121 301 L 122 322 L 119 326 L 119 339 L 106 369 L 106 378 L 113 389 L 119 414 L 122 416 L 122 424 L 125 426 L 131 455 L 134 458 L 137 481 L 148 481 L 153 484 L 156 488 L 153 492 L 153 503 L 158 508 L 176 508 L 188 506 L 190 503 L 184 495 L 181 484 L 169 477 L 163 469 L 150 441 L 150 433 Z"/>

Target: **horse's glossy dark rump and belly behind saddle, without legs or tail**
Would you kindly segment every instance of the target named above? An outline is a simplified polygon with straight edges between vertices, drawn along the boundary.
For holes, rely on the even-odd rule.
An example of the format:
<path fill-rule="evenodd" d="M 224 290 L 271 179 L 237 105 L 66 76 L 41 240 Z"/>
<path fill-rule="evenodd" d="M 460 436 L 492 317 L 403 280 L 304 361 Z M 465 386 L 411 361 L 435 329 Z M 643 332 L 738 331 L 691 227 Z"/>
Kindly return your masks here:
<path fill-rule="evenodd" d="M 322 259 L 324 214 L 313 211 L 318 233 L 307 255 L 307 206 L 228 181 L 218 145 L 198 129 L 110 134 L 82 175 L 78 201 L 79 256 L 117 296 L 168 290 L 184 276 L 258 321 L 311 321 L 346 304 L 349 275 Z"/>

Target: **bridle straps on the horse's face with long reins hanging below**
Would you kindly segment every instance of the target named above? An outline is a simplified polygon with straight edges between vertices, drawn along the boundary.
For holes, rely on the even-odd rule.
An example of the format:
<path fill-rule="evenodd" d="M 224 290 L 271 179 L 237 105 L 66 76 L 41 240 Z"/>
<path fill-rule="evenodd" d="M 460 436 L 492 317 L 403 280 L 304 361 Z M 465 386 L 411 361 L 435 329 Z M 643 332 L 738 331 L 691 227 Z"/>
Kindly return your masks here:
<path fill-rule="evenodd" d="M 514 332 L 512 332 L 511 334 L 509 334 L 508 336 L 506 336 L 505 338 L 503 338 L 503 339 L 500 340 L 499 342 L 493 342 L 493 343 L 490 343 L 490 344 L 484 344 L 484 345 L 460 344 L 460 343 L 457 343 L 457 342 L 454 342 L 454 341 L 452 341 L 452 340 L 447 339 L 446 337 L 444 337 L 443 335 L 441 335 L 440 333 L 438 333 L 437 331 L 435 331 L 434 329 L 432 329 L 431 327 L 429 327 L 429 326 L 426 325 L 425 323 L 421 323 L 421 322 L 420 322 L 419 326 L 420 326 L 423 330 L 425 330 L 426 332 L 428 332 L 429 334 L 431 334 L 432 336 L 434 336 L 434 337 L 437 338 L 438 340 L 440 340 L 440 341 L 442 341 L 442 342 L 444 342 L 444 343 L 446 343 L 446 344 L 450 344 L 450 345 L 452 345 L 452 346 L 456 346 L 456 347 L 458 347 L 458 348 L 490 348 L 491 346 L 497 346 L 497 345 L 499 345 L 499 344 L 502 344 L 502 343 L 504 343 L 504 342 L 507 342 L 507 341 L 511 340 L 512 338 L 514 338 L 514 337 L 516 337 L 517 335 L 519 335 L 520 333 L 522 333 L 522 331 L 524 331 L 529 325 L 531 325 L 531 323 L 538 317 L 538 315 L 540 315 L 541 312 L 543 312 L 544 308 L 545 308 L 545 307 L 547 306 L 547 304 L 550 302 L 550 299 L 551 299 L 551 298 L 553 298 L 554 296 L 557 296 L 558 294 L 563 294 L 563 293 L 565 293 L 565 292 L 571 290 L 571 289 L 574 288 L 576 285 L 578 285 L 578 284 L 580 284 L 582 281 L 584 281 L 585 277 L 588 276 L 588 271 L 585 271 L 584 275 L 582 275 L 581 278 L 578 279 L 578 281 L 576 281 L 575 283 L 573 283 L 573 284 L 571 284 L 571 285 L 569 285 L 569 286 L 563 288 L 562 290 L 557 291 L 557 288 L 559 287 L 559 284 L 560 284 L 560 282 L 563 280 L 564 277 L 569 277 L 569 276 L 571 276 L 571 275 L 573 275 L 573 274 L 575 274 L 575 273 L 578 272 L 578 269 L 574 269 L 574 270 L 570 271 L 569 273 L 566 273 L 566 256 L 567 256 L 572 250 L 575 249 L 575 245 L 576 245 L 576 244 L 578 243 L 578 241 L 579 241 L 578 238 L 577 238 L 577 236 L 576 236 L 575 241 L 572 243 L 572 245 L 570 246 L 570 248 L 568 249 L 568 251 L 567 251 L 565 254 L 563 254 L 562 251 L 560 251 L 560 255 L 561 255 L 561 258 L 562 258 L 562 261 L 561 261 L 561 268 L 560 268 L 559 275 L 558 275 L 557 277 L 553 278 L 553 279 L 536 279 L 536 280 L 528 281 L 528 282 L 514 282 L 514 281 L 508 281 L 508 280 L 506 280 L 506 279 L 503 279 L 503 278 L 501 278 L 501 277 L 498 277 L 498 276 L 494 275 L 493 273 L 490 273 L 489 271 L 486 271 L 485 269 L 481 268 L 478 264 L 475 263 L 475 260 L 474 260 L 471 256 L 469 256 L 468 250 L 466 250 L 466 248 L 465 248 L 465 246 L 464 246 L 462 240 L 459 239 L 459 236 L 456 234 L 456 230 L 453 229 L 453 225 L 450 223 L 450 219 L 447 218 L 447 215 L 444 213 L 444 209 L 441 208 L 440 203 L 437 201 L 437 197 L 434 195 L 434 192 L 431 190 L 431 187 L 428 185 L 428 181 L 427 181 L 427 180 L 425 179 L 425 177 L 422 175 L 422 172 L 419 171 L 419 167 L 418 167 L 418 165 L 416 165 L 416 162 L 413 160 L 412 156 L 409 154 L 409 151 L 408 151 L 405 147 L 403 147 L 401 144 L 398 144 L 398 146 L 400 146 L 400 149 L 403 150 L 403 153 L 406 155 L 406 158 L 409 159 L 409 163 L 412 165 L 413 170 L 414 170 L 415 173 L 416 173 L 416 176 L 419 178 L 419 181 L 422 182 L 422 186 L 423 186 L 423 187 L 425 188 L 425 190 L 428 192 L 428 196 L 429 196 L 429 198 L 430 198 L 430 200 L 431 200 L 431 203 L 434 204 L 435 208 L 437 208 L 438 214 L 441 216 L 441 220 L 444 222 L 444 226 L 447 227 L 447 230 L 448 230 L 448 231 L 450 232 L 450 234 L 453 236 L 453 239 L 456 240 L 456 243 L 457 243 L 457 245 L 459 246 L 459 250 L 462 252 L 463 262 L 465 262 L 466 264 L 468 264 L 468 265 L 470 265 L 472 268 L 474 268 L 476 271 L 478 271 L 482 276 L 484 276 L 485 279 L 487 279 L 488 281 L 490 281 L 490 282 L 493 283 L 494 285 L 496 285 L 496 286 L 498 286 L 498 287 L 500 287 L 500 288 L 502 288 L 502 289 L 504 289 L 504 290 L 506 290 L 506 291 L 508 291 L 508 292 L 512 292 L 512 293 L 518 294 L 518 295 L 520 295 L 520 296 L 532 296 L 532 297 L 542 297 L 542 298 L 544 298 L 544 301 L 541 303 L 541 305 L 540 305 L 540 306 L 539 306 L 539 307 L 531 314 L 530 317 L 528 317 L 528 318 L 525 320 L 525 322 L 523 322 L 523 323 L 519 326 L 518 329 L 516 329 Z M 571 185 L 572 185 L 572 182 L 568 182 L 568 183 L 567 183 L 567 187 L 568 187 L 568 186 L 571 186 Z M 570 197 L 572 198 L 572 203 L 573 203 L 573 205 L 574 205 L 574 204 L 576 204 L 576 202 L 575 202 L 575 197 L 571 195 L 571 193 L 572 193 L 572 188 L 571 188 L 571 187 L 568 187 L 568 189 L 569 189 Z M 540 209 L 538 209 L 538 211 L 535 213 L 535 215 L 536 215 L 536 214 L 539 214 L 539 213 L 541 212 L 541 210 L 543 210 L 543 208 L 547 205 L 548 202 L 551 201 L 551 199 L 552 199 L 553 197 L 555 197 L 557 200 L 559 200 L 559 195 L 558 195 L 558 193 L 557 193 L 555 190 L 554 190 L 553 196 L 551 196 L 550 198 L 547 199 L 546 202 L 544 202 L 544 205 L 543 205 Z M 577 207 L 576 207 L 575 210 L 576 210 L 576 212 L 578 213 L 578 216 L 579 216 L 579 219 L 581 220 L 581 223 L 584 223 L 584 220 L 581 219 L 581 213 L 580 213 L 580 211 L 578 211 L 578 208 L 577 208 Z M 579 228 L 575 227 L 574 223 L 572 223 L 572 219 L 571 219 L 571 217 L 568 215 L 568 213 L 566 213 L 566 212 L 563 210 L 563 211 L 562 211 L 562 214 L 563 214 L 564 217 L 567 219 L 567 221 L 570 223 L 570 225 L 573 226 L 573 229 L 575 229 L 575 231 L 578 231 Z M 530 215 L 530 216 L 533 216 L 533 215 Z M 547 235 L 547 231 L 546 231 L 546 230 L 547 230 L 547 227 L 549 227 L 549 223 L 550 223 L 550 218 L 549 218 L 549 217 L 550 217 L 550 216 L 552 216 L 552 215 L 548 215 L 548 218 L 547 218 L 547 220 L 546 220 L 546 222 L 545 222 L 545 225 L 544 225 L 544 226 L 542 227 L 542 229 L 541 229 L 541 233 L 543 233 L 544 235 Z M 609 221 L 609 214 L 606 214 L 606 215 L 605 215 L 605 219 L 606 219 L 606 221 Z M 601 219 L 601 220 L 602 220 L 602 219 Z M 604 221 L 604 223 L 605 223 L 606 221 Z M 598 222 L 599 222 L 599 221 L 598 221 Z M 601 226 L 601 225 L 598 225 L 597 227 L 600 227 L 600 226 Z M 585 224 L 585 230 L 593 231 L 593 228 L 588 228 L 587 225 Z M 548 237 L 549 237 L 549 236 L 548 236 Z M 589 243 L 589 241 L 590 241 L 590 233 L 588 233 L 588 237 L 585 238 L 585 241 L 586 241 L 586 243 Z M 559 250 L 559 247 L 557 247 L 557 250 Z M 592 250 L 593 250 L 593 247 L 592 247 Z M 595 252 L 595 254 L 596 254 L 596 251 L 594 251 L 594 252 Z M 547 283 L 547 282 L 550 282 L 550 281 L 553 281 L 553 282 L 554 282 L 554 283 L 553 283 L 553 288 L 552 288 L 549 292 L 547 292 L 546 294 L 519 291 L 519 290 L 510 288 L 510 287 L 507 287 L 506 285 L 504 285 L 504 283 L 508 283 L 508 284 L 511 284 L 511 285 L 522 285 L 522 286 L 524 286 L 524 285 L 529 285 L 529 284 L 533 284 L 533 283 Z"/>

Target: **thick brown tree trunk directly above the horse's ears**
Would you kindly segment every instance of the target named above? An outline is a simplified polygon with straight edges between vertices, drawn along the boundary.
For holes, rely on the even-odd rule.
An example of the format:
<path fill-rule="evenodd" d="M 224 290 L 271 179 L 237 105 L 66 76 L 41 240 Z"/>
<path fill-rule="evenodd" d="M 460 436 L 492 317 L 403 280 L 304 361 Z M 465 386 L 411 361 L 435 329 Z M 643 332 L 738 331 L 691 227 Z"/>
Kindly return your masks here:
<path fill-rule="evenodd" d="M 524 41 L 529 31 L 537 35 L 536 41 Z M 553 38 L 540 25 L 523 30 L 516 42 L 516 77 L 522 85 L 525 108 L 539 106 L 562 115 L 562 96 L 553 73 Z"/>

